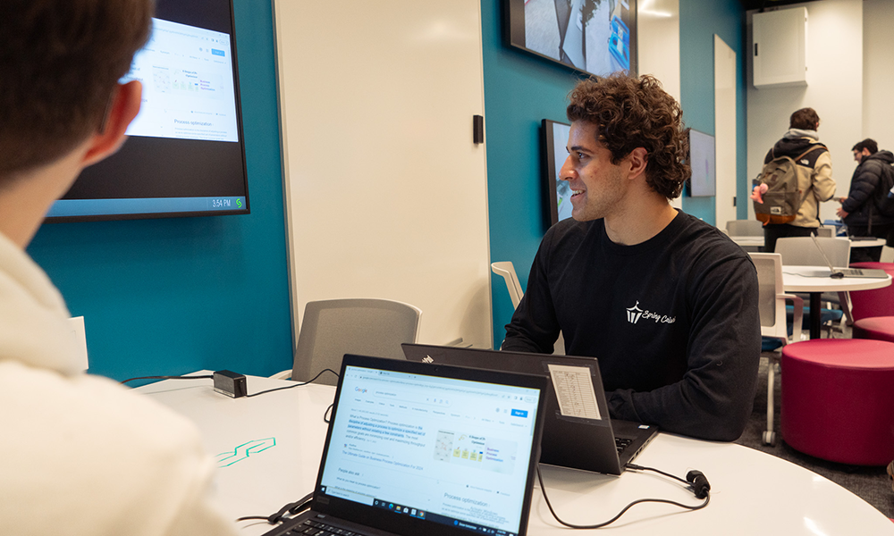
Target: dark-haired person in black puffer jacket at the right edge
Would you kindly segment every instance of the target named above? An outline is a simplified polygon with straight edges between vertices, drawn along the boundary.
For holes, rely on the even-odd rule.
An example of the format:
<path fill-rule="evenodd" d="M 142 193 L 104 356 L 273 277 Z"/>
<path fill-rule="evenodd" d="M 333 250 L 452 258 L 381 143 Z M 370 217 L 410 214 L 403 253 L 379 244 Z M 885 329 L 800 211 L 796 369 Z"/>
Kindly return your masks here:
<path fill-rule="evenodd" d="M 852 149 L 857 162 L 850 180 L 848 197 L 841 197 L 837 214 L 848 226 L 852 237 L 887 239 L 894 230 L 894 212 L 885 203 L 888 190 L 894 186 L 894 154 L 880 151 L 872 138 L 858 142 Z M 852 247 L 850 262 L 879 262 L 881 246 Z"/>

